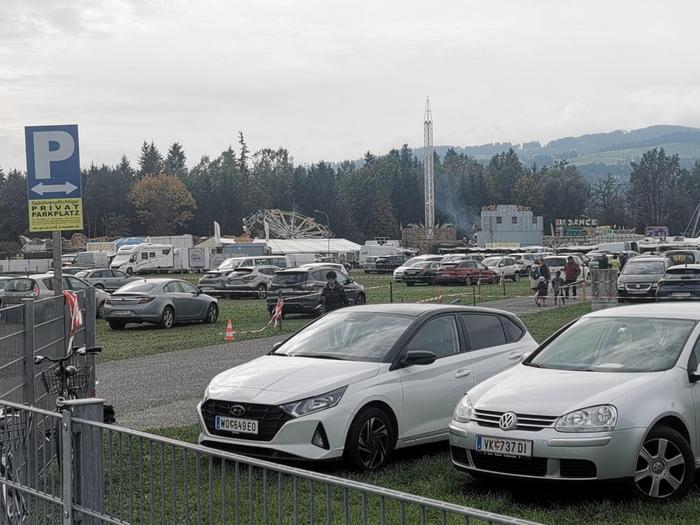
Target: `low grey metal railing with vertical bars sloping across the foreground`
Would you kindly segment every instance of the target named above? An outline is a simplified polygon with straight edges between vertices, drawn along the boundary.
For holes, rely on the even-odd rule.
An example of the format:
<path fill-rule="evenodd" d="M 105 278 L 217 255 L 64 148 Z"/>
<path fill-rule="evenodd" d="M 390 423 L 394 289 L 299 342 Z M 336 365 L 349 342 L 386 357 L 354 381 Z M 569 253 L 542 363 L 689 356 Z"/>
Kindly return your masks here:
<path fill-rule="evenodd" d="M 105 425 L 89 401 L 0 409 L 15 416 L 0 443 L 27 459 L 0 486 L 22 495 L 27 523 L 533 523 Z M 31 426 L 35 441 L 22 431 Z"/>

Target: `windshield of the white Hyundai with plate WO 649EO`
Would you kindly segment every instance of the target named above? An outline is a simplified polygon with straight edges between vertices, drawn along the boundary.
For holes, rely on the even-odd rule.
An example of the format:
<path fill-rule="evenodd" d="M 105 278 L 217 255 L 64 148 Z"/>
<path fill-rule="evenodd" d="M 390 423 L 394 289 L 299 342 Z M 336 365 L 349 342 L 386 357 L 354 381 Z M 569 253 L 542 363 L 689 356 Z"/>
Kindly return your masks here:
<path fill-rule="evenodd" d="M 413 322 L 412 317 L 347 310 L 319 319 L 273 354 L 381 363 Z"/>

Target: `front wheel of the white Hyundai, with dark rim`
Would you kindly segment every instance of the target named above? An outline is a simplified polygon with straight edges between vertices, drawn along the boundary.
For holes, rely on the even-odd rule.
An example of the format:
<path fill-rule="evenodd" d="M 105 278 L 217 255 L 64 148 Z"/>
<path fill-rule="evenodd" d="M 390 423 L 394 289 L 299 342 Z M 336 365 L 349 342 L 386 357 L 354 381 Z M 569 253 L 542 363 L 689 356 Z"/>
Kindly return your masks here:
<path fill-rule="evenodd" d="M 394 451 L 396 431 L 389 416 L 377 407 L 365 407 L 355 416 L 345 439 L 345 461 L 360 471 L 384 466 Z"/>

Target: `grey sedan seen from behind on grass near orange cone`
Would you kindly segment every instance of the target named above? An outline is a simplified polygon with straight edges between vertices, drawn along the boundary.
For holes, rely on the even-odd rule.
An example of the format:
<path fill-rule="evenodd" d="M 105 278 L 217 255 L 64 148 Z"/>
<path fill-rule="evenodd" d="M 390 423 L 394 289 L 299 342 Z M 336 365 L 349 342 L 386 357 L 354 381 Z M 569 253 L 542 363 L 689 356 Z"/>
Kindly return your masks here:
<path fill-rule="evenodd" d="M 112 294 L 105 304 L 104 318 L 113 330 L 122 330 L 129 323 L 154 323 L 162 328 L 192 321 L 214 324 L 219 305 L 187 281 L 139 280 Z"/>

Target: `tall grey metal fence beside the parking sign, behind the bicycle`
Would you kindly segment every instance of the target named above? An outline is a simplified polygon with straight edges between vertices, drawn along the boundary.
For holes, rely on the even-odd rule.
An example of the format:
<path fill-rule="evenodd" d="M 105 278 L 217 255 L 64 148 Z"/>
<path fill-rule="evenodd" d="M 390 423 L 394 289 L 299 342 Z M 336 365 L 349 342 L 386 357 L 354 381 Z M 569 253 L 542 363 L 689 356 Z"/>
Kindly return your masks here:
<path fill-rule="evenodd" d="M 95 344 L 94 290 L 77 292 L 83 314 L 83 326 L 74 344 Z M 46 409 L 55 407 L 41 381 L 47 365 L 35 366 L 34 357 L 59 357 L 66 352 L 69 315 L 62 296 L 27 299 L 23 304 L 0 309 L 0 399 Z M 94 389 L 94 357 L 76 357 L 77 366 L 91 371 L 90 390 Z"/>

